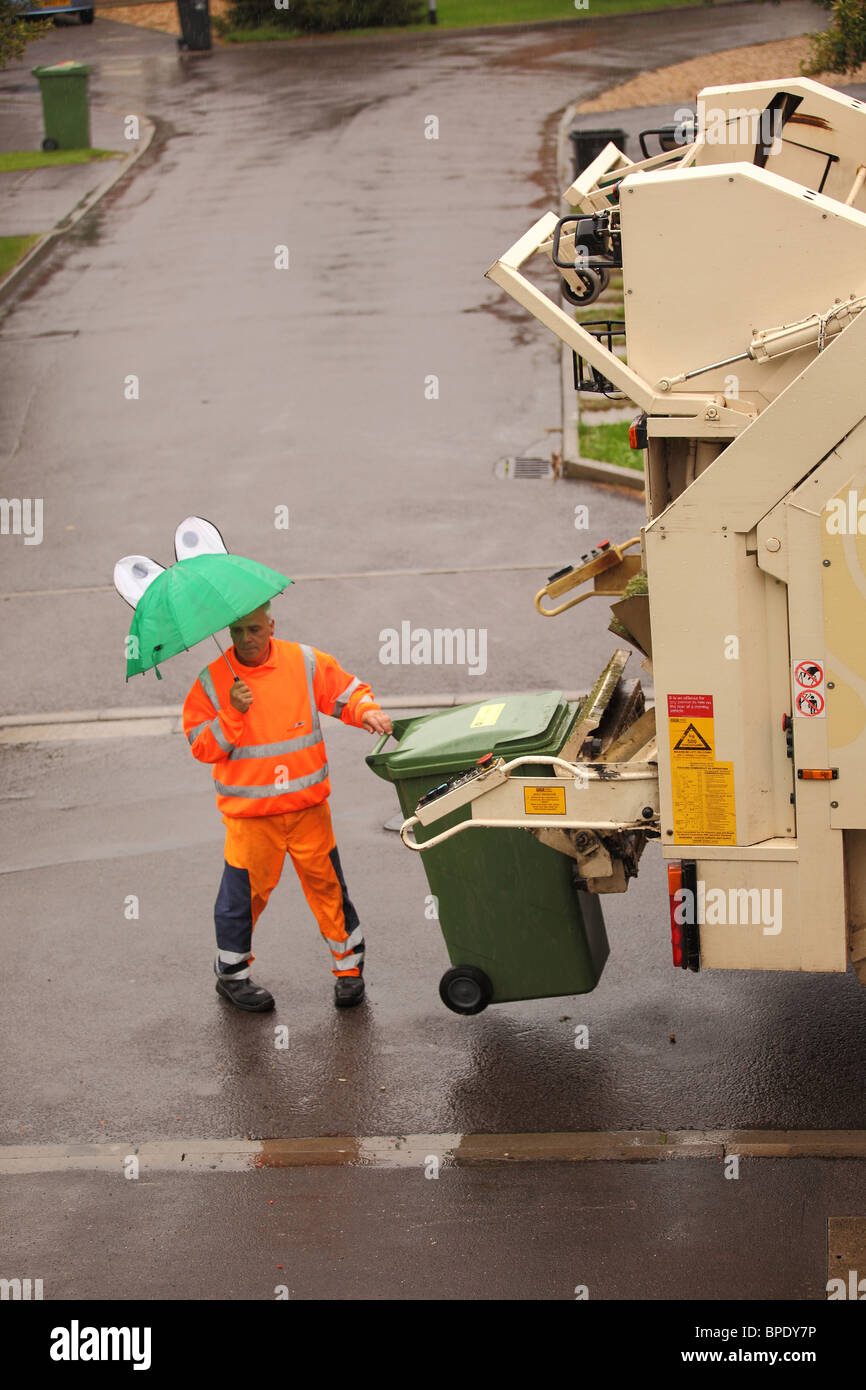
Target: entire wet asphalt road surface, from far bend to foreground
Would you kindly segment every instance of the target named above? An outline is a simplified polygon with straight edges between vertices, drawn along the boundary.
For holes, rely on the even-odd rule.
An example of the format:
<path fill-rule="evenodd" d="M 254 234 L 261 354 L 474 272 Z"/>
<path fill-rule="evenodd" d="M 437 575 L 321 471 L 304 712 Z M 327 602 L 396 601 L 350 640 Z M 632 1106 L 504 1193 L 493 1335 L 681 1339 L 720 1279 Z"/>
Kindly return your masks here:
<path fill-rule="evenodd" d="M 172 662 L 161 685 L 124 689 L 125 610 L 113 594 L 76 591 L 110 582 L 125 552 L 167 563 L 189 512 L 221 523 L 239 553 L 289 574 L 335 575 L 278 600 L 278 631 L 336 652 L 382 695 L 474 698 L 480 684 L 466 670 L 379 667 L 379 630 L 405 619 L 487 627 L 485 691 L 587 688 L 616 645 L 606 612 L 584 605 L 542 623 L 531 595 L 538 577 L 584 549 L 575 503 L 589 505 L 592 539 L 634 535 L 642 503 L 582 484 L 493 481 L 496 457 L 559 421 L 559 378 L 553 341 L 482 272 L 555 206 L 552 136 L 569 101 L 641 68 L 815 24 L 809 4 L 726 7 L 678 15 L 676 26 L 660 15 L 381 46 L 263 46 L 185 63 L 167 36 L 107 22 L 58 29 L 38 61 L 93 60 L 95 99 L 146 113 L 158 139 L 3 321 L 4 491 L 44 498 L 46 534 L 40 546 L 3 542 L 3 592 L 24 596 L 0 606 L 3 649 L 14 652 L 0 706 L 182 698 L 209 656 Z M 29 83 L 29 65 L 0 75 L 0 95 Z M 430 114 L 436 142 L 424 139 Z M 285 272 L 272 267 L 281 243 Z M 124 399 L 131 373 L 136 402 Z M 438 400 L 424 396 L 430 374 Z M 291 507 L 288 532 L 272 524 L 279 505 Z M 339 578 L 510 562 L 538 563 L 538 577 Z M 43 589 L 71 592 L 28 596 Z M 638 674 L 637 657 L 631 666 Z M 448 1013 L 436 994 L 448 960 L 424 919 L 423 869 L 381 828 L 396 803 L 363 763 L 368 746 L 342 726 L 328 731 L 336 833 L 368 941 L 368 1004 L 334 1011 L 322 947 L 288 872 L 257 929 L 257 973 L 278 998 L 264 1019 L 214 997 L 221 827 L 207 771 L 185 742 L 3 749 L 14 986 L 4 999 L 4 1144 L 866 1127 L 866 1004 L 853 976 L 673 972 L 656 847 L 630 892 L 603 903 L 612 956 L 594 994 L 477 1019 Z M 124 916 L 131 894 L 138 922 Z M 288 1051 L 274 1048 L 275 1023 L 289 1027 Z M 589 1026 L 587 1051 L 573 1045 L 578 1023 Z M 598 1297 L 667 1297 L 677 1269 L 703 1297 L 822 1295 L 823 1223 L 858 1213 L 858 1165 L 795 1163 L 783 1176 L 780 1163 L 776 1180 L 730 1184 L 738 1215 L 716 1262 L 703 1251 L 730 1225 L 719 1208 L 730 1188 L 710 1161 L 689 1161 L 685 1188 L 673 1186 L 674 1168 L 684 1172 L 503 1169 L 485 1198 L 477 1177 L 463 1177 L 448 1197 L 455 1205 L 442 1201 L 435 1216 L 427 1208 L 443 1180 L 413 1188 L 407 1175 L 377 1175 L 371 1198 L 370 1188 L 359 1195 L 370 1175 L 353 1170 L 268 1175 L 270 1195 L 252 1186 L 263 1179 L 235 1177 L 220 1241 L 222 1251 L 234 1241 L 234 1258 L 225 1277 L 204 1283 L 209 1184 L 224 1176 L 122 1184 L 118 1201 L 114 1180 L 21 1177 L 6 1250 L 15 1268 L 43 1261 L 54 1279 L 46 1297 L 267 1298 L 282 1261 L 253 1207 L 291 1193 L 300 1226 L 285 1240 L 311 1251 L 296 1261 L 292 1297 L 477 1298 L 509 1287 L 512 1297 L 567 1298 L 575 1264 L 592 1268 Z M 594 1212 L 580 1230 L 560 1220 L 562 1184 L 575 1213 Z M 681 1191 L 684 1205 L 671 1195 Z M 131 1201 L 142 1202 L 139 1218 Z M 498 1227 L 491 1204 L 516 1223 Z M 538 1218 L 545 1204 L 555 1219 Z M 54 1207 L 65 1215 L 46 1222 Z M 335 1234 L 335 1209 L 357 1211 L 354 1226 L 346 1215 Z M 610 1245 L 613 1209 L 639 1216 L 626 1215 Z M 463 1237 L 431 1236 L 431 1222 L 477 1222 L 468 1257 Z M 154 1232 L 181 1223 L 189 1245 L 157 1258 Z M 93 1227 L 114 1251 L 101 1265 Z M 763 1254 L 748 1291 L 731 1293 L 744 1287 L 731 1280 L 755 1229 Z M 516 1265 L 506 1284 L 495 1270 L 525 1248 L 527 1232 L 537 1262 Z M 58 1264 L 50 1250 L 60 1237 L 68 1254 Z M 434 1238 L 448 1262 L 431 1277 L 417 1261 Z M 659 1241 L 664 1277 L 641 1293 L 634 1261 Z M 359 1248 L 360 1282 L 335 1294 L 325 1270 Z"/>

